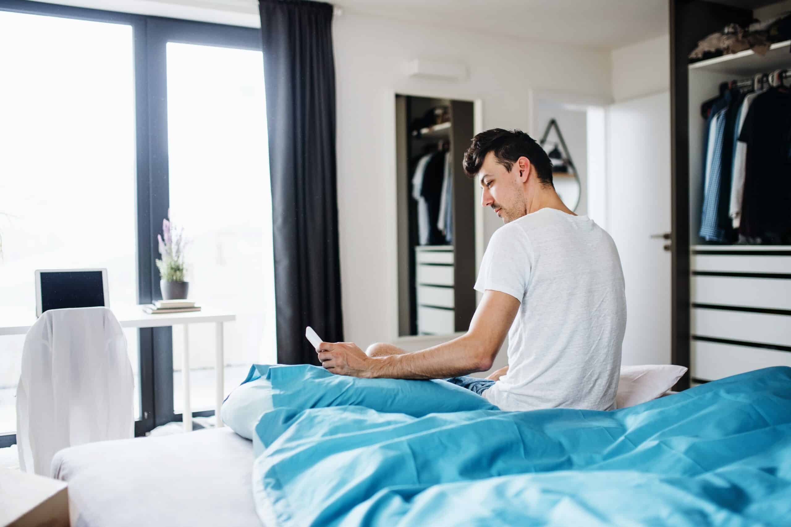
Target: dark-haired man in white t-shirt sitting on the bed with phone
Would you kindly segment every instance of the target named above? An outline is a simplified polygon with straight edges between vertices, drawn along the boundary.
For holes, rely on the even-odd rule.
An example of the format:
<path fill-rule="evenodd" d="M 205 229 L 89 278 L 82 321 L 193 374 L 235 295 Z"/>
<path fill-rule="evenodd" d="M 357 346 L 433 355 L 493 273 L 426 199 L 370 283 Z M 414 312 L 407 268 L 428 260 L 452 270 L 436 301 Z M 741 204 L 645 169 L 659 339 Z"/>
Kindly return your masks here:
<path fill-rule="evenodd" d="M 467 333 L 419 352 L 322 342 L 322 364 L 365 378 L 456 377 L 488 371 L 507 334 L 509 365 L 490 375 L 490 387 L 448 380 L 503 410 L 615 408 L 626 297 L 610 235 L 563 205 L 549 157 L 524 132 L 476 135 L 464 171 L 505 224 L 483 255 L 475 282 L 483 299 Z"/>

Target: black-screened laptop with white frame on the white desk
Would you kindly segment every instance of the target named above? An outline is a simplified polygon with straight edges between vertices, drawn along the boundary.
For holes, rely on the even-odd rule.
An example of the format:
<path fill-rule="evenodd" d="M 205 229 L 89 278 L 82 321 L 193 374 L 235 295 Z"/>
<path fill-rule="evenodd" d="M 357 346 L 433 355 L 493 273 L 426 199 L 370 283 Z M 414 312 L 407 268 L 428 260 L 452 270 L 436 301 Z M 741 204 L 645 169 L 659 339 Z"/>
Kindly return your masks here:
<path fill-rule="evenodd" d="M 37 269 L 36 318 L 63 307 L 110 307 L 107 269 Z"/>

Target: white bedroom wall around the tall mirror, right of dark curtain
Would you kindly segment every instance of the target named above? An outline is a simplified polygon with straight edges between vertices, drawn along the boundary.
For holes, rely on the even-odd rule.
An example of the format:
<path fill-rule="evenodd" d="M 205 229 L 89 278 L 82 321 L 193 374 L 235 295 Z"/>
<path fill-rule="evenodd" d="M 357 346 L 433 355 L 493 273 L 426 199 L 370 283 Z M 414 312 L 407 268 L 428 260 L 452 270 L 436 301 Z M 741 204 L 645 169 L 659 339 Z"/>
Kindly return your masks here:
<path fill-rule="evenodd" d="M 610 54 L 407 24 L 344 13 L 334 22 L 338 115 L 338 205 L 345 338 L 361 348 L 395 341 L 397 305 L 388 284 L 396 273 L 389 254 L 395 145 L 385 130 L 385 94 L 395 92 L 483 100 L 483 128 L 528 130 L 528 89 L 609 97 Z M 412 58 L 464 62 L 464 81 L 406 77 Z M 389 108 L 392 112 L 392 107 Z M 472 182 L 470 184 L 473 184 Z M 472 205 L 471 205 L 472 206 Z M 485 211 L 484 238 L 501 225 Z M 469 284 L 472 287 L 473 284 Z"/>

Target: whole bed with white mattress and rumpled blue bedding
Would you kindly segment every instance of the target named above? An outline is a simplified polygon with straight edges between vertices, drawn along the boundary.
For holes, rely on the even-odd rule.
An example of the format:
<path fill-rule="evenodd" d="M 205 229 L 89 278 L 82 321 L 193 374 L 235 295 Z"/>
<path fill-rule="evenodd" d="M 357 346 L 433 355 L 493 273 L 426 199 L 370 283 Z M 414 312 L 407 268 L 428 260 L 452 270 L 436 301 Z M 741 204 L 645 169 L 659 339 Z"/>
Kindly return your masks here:
<path fill-rule="evenodd" d="M 70 484 L 74 525 L 85 526 L 791 518 L 789 367 L 612 412 L 501 412 L 466 390 L 451 396 L 455 388 L 253 367 L 234 392 L 245 397 L 232 394 L 223 407 L 237 434 L 75 447 L 56 455 L 55 476 Z M 385 411 L 392 408 L 399 412 Z"/>

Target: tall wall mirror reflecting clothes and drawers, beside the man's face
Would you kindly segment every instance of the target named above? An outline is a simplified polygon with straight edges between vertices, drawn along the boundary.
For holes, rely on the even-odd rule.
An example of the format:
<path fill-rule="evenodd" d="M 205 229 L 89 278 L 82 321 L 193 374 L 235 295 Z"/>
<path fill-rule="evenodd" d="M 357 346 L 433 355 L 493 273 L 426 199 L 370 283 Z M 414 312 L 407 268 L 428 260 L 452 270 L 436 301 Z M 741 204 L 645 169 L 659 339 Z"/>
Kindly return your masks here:
<path fill-rule="evenodd" d="M 395 96 L 399 336 L 466 331 L 475 312 L 471 101 Z"/>

